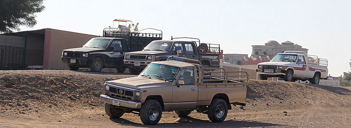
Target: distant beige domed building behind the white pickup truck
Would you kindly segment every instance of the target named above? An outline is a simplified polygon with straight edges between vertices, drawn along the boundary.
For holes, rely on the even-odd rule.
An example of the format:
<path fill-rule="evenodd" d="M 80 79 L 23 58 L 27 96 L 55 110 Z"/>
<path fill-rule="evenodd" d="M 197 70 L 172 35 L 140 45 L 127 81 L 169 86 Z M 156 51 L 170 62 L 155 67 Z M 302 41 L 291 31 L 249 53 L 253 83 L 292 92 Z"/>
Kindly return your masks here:
<path fill-rule="evenodd" d="M 264 45 L 252 45 L 251 56 L 261 56 L 262 58 L 269 56 L 269 59 L 272 59 L 276 54 L 283 53 L 284 51 L 304 51 L 307 53 L 308 49 L 302 48 L 302 46 L 290 41 L 285 41 L 280 44 L 277 41 L 271 40 Z"/>

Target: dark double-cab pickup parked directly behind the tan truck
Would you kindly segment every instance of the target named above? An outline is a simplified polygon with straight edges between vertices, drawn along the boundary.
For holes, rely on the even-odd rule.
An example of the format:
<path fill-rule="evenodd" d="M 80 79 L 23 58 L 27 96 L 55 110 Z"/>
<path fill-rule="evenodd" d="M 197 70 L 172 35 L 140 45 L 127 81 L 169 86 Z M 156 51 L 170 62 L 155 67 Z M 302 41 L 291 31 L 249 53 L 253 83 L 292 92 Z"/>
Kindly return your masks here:
<path fill-rule="evenodd" d="M 179 41 L 174 39 L 196 39 L 198 41 Z M 131 74 L 139 74 L 152 61 L 164 61 L 169 56 L 178 56 L 200 60 L 203 65 L 219 67 L 219 44 L 200 43 L 197 38 L 172 38 L 156 40 L 149 43 L 142 51 L 128 52 L 124 56 L 124 64 Z M 199 46 L 197 45 L 199 42 Z"/>

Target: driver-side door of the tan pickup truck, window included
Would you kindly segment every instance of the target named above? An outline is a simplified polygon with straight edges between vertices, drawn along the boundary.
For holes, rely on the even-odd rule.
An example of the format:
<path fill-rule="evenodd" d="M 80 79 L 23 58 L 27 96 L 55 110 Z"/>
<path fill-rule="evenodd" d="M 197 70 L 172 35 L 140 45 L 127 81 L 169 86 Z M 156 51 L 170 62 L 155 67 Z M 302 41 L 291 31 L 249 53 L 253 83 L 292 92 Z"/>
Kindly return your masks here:
<path fill-rule="evenodd" d="M 195 108 L 198 102 L 198 85 L 195 84 L 194 68 L 183 69 L 177 80 L 184 85 L 173 85 L 172 109 Z"/>

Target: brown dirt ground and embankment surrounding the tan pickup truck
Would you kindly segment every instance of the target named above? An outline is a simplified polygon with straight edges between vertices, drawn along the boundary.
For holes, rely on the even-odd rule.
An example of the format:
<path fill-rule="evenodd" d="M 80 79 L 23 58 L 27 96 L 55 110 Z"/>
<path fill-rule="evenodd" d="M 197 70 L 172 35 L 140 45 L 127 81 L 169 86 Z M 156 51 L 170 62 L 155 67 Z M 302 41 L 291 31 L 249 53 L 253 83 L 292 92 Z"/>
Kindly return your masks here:
<path fill-rule="evenodd" d="M 98 96 L 106 80 L 128 74 L 66 70 L 0 72 L 0 127 L 350 127 L 351 88 L 250 80 L 247 106 L 224 122 L 206 114 L 163 112 L 157 125 L 126 113 L 109 118 Z"/>

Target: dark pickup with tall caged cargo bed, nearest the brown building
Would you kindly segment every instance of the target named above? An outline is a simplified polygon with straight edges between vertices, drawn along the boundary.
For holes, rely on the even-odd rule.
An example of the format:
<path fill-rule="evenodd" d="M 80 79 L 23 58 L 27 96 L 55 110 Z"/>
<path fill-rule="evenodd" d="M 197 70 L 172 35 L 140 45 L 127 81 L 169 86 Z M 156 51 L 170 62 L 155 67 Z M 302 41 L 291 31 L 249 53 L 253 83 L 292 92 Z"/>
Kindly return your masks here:
<path fill-rule="evenodd" d="M 86 67 L 99 72 L 103 68 L 116 68 L 118 72 L 124 72 L 125 53 L 142 50 L 153 40 L 162 40 L 160 30 L 158 34 L 140 31 L 132 33 L 129 29 L 106 28 L 103 37 L 92 38 L 81 48 L 63 50 L 61 60 L 70 70 Z"/>

